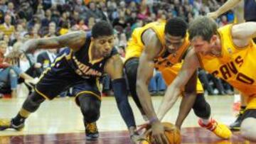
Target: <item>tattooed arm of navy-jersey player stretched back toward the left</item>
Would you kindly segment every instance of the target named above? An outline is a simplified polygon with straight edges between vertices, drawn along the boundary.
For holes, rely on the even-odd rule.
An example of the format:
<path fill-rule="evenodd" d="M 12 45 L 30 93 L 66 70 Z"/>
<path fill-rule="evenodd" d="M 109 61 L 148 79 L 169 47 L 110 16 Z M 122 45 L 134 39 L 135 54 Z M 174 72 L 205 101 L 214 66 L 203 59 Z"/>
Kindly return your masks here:
<path fill-rule="evenodd" d="M 79 50 L 85 44 L 85 31 L 75 31 L 65 35 L 53 38 L 38 38 L 26 41 L 21 45 L 20 50 L 23 52 L 31 52 L 36 49 L 51 49 L 69 47 L 73 50 Z"/>

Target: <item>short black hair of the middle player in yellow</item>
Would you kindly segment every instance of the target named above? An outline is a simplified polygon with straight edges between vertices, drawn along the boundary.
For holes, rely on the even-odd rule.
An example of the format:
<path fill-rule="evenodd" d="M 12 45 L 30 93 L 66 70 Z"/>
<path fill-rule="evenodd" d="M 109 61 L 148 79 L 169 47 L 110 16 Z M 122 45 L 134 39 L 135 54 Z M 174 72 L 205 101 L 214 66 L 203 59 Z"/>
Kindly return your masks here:
<path fill-rule="evenodd" d="M 186 35 L 187 28 L 188 25 L 182 18 L 171 18 L 166 23 L 164 33 L 174 36 L 181 36 L 183 38 Z"/>

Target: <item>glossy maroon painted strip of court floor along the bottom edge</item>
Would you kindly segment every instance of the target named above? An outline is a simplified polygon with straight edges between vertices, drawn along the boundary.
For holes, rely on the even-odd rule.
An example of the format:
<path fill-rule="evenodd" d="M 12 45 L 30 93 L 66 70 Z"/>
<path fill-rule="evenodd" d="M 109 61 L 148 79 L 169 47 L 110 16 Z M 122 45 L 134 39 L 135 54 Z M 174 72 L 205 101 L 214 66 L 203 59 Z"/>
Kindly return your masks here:
<path fill-rule="evenodd" d="M 231 143 L 252 143 L 244 140 L 240 133 L 234 133 L 231 140 L 221 140 L 203 128 L 182 128 L 182 143 L 201 144 L 231 144 Z M 129 143 L 127 131 L 101 132 L 99 140 L 86 141 L 84 133 L 59 133 L 48 135 L 14 135 L 0 136 L 0 143 L 90 143 L 90 144 L 124 144 Z"/>

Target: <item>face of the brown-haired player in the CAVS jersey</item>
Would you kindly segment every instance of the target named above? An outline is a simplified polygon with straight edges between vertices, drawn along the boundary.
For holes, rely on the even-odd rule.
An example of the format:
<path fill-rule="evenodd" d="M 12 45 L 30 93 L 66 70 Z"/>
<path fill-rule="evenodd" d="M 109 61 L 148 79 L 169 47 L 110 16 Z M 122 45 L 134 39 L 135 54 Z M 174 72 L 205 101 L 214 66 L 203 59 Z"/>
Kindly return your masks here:
<path fill-rule="evenodd" d="M 211 54 L 211 44 L 203 40 L 201 36 L 195 37 L 191 40 L 191 45 L 196 50 L 196 52 L 201 53 L 202 55 L 210 55 Z"/>

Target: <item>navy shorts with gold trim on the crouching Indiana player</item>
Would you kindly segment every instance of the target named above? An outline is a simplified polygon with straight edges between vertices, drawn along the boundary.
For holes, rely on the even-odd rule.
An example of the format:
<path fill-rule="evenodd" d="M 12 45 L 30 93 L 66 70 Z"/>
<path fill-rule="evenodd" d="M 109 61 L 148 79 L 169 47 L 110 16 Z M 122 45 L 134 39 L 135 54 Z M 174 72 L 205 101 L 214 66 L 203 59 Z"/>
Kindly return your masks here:
<path fill-rule="evenodd" d="M 59 59 L 59 60 L 58 60 Z M 46 99 L 54 99 L 58 94 L 70 87 L 74 88 L 75 96 L 80 94 L 92 94 L 100 99 L 98 79 L 82 78 L 70 67 L 65 55 L 55 60 L 36 84 L 36 92 Z"/>

